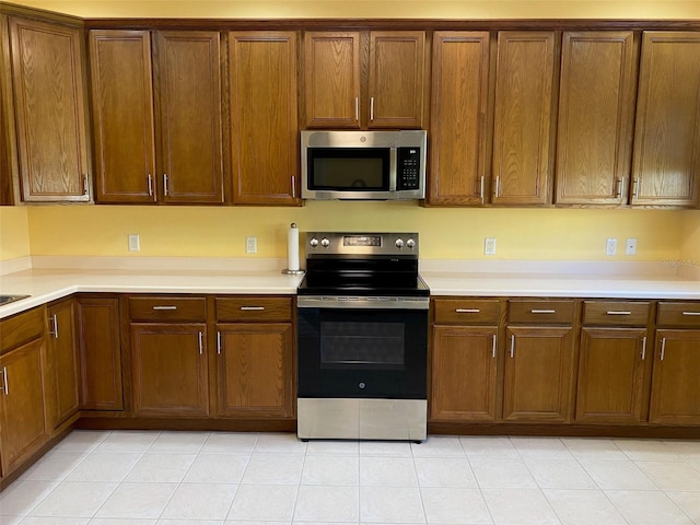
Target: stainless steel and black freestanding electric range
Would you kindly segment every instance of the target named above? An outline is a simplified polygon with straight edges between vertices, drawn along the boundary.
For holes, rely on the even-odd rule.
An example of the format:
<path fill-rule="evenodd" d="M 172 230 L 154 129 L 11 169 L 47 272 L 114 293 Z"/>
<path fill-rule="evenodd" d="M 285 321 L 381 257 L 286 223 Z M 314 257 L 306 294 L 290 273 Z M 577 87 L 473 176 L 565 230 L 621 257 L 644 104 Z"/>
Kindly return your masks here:
<path fill-rule="evenodd" d="M 425 439 L 429 293 L 417 233 L 306 234 L 300 439 Z"/>

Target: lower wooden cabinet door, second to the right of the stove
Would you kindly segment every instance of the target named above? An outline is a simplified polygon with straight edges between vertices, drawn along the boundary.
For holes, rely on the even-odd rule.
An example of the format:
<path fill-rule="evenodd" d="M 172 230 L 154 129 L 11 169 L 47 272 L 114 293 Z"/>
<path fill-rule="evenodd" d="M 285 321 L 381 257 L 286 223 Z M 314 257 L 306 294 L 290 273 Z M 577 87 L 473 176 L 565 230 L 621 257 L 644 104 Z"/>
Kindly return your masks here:
<path fill-rule="evenodd" d="M 509 327 L 503 419 L 569 421 L 573 376 L 573 330 Z"/>

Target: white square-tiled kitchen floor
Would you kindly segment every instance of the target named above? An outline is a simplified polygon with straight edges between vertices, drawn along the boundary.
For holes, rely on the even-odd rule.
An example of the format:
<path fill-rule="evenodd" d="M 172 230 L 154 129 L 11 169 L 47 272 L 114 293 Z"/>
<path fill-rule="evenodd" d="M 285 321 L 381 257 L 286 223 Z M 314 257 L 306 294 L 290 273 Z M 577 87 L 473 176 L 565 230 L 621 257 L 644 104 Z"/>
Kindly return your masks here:
<path fill-rule="evenodd" d="M 0 523 L 700 524 L 700 441 L 74 431 Z"/>

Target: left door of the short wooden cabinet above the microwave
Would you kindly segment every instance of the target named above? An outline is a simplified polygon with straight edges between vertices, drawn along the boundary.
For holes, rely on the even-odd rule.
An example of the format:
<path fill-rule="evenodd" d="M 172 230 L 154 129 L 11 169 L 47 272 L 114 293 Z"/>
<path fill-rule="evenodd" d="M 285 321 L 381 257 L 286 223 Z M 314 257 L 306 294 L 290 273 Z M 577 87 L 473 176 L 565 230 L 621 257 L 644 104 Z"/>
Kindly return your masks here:
<path fill-rule="evenodd" d="M 304 35 L 306 127 L 360 127 L 360 33 Z"/>

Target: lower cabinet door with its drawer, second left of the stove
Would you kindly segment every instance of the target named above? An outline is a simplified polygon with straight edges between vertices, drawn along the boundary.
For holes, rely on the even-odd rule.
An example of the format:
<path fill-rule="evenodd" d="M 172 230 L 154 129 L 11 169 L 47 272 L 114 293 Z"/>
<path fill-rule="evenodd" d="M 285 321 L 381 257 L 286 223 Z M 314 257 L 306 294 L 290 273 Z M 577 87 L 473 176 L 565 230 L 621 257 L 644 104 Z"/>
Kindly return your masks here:
<path fill-rule="evenodd" d="M 207 299 L 129 298 L 135 417 L 207 417 Z"/>

